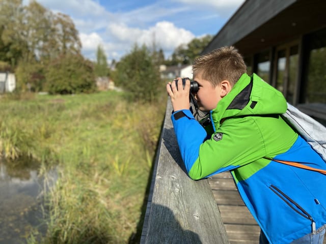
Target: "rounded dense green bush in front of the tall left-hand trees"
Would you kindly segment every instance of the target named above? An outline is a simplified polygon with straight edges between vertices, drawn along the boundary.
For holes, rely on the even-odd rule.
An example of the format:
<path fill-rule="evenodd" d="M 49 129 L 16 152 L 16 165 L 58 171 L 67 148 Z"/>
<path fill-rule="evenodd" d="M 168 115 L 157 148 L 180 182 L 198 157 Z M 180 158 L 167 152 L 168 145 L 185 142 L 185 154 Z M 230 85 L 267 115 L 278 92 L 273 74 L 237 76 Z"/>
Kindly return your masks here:
<path fill-rule="evenodd" d="M 56 58 L 49 64 L 45 78 L 50 94 L 95 91 L 93 64 L 81 54 L 66 53 Z"/>

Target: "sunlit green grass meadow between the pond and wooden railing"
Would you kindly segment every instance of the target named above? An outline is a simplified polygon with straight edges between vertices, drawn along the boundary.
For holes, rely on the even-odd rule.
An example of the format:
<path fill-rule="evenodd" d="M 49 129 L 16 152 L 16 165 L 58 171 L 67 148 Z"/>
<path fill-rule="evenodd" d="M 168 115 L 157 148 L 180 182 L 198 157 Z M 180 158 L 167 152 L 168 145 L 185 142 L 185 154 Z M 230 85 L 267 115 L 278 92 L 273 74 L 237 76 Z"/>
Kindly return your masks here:
<path fill-rule="evenodd" d="M 16 162 L 58 165 L 42 243 L 127 243 L 137 231 L 165 98 L 122 93 L 0 99 L 0 152 Z M 29 243 L 36 243 L 33 233 Z"/>

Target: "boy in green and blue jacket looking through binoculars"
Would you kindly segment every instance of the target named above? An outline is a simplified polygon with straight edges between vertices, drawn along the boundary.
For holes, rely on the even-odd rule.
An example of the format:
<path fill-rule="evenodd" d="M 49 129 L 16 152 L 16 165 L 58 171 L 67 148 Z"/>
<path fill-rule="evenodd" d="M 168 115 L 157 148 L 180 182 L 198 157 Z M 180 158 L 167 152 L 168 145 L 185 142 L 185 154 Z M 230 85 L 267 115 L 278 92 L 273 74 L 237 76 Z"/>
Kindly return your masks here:
<path fill-rule="evenodd" d="M 200 56 L 193 64 L 199 109 L 210 111 L 212 134 L 189 111 L 189 80 L 167 84 L 171 116 L 188 175 L 201 179 L 230 170 L 261 228 L 260 243 L 320 243 L 326 228 L 326 176 L 274 160 L 326 169 L 325 162 L 280 114 L 283 95 L 246 74 L 234 47 Z M 206 132 L 207 131 L 207 132 Z"/>

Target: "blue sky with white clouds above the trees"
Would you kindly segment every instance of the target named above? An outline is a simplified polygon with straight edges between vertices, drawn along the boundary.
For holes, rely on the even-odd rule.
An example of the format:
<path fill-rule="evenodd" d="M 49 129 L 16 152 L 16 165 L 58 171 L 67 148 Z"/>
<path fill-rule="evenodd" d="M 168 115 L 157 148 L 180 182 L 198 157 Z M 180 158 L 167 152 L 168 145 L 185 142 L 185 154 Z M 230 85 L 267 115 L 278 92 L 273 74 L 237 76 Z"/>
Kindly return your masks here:
<path fill-rule="evenodd" d="M 30 0 L 24 0 L 28 4 Z M 162 49 L 165 58 L 193 38 L 216 35 L 244 0 L 37 0 L 69 15 L 82 53 L 95 60 L 98 45 L 108 62 L 128 54 L 135 43 Z"/>

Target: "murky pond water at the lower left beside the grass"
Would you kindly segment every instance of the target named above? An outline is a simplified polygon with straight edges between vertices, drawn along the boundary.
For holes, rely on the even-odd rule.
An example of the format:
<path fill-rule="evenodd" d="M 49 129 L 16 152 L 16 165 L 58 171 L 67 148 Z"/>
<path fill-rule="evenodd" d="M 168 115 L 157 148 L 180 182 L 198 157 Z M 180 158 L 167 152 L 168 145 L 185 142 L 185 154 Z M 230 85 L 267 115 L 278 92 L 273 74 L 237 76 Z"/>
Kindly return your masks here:
<path fill-rule="evenodd" d="M 52 170 L 40 177 L 38 167 L 0 159 L 0 244 L 26 243 L 35 228 L 40 234 L 46 232 L 43 196 L 56 181 L 57 173 Z"/>

